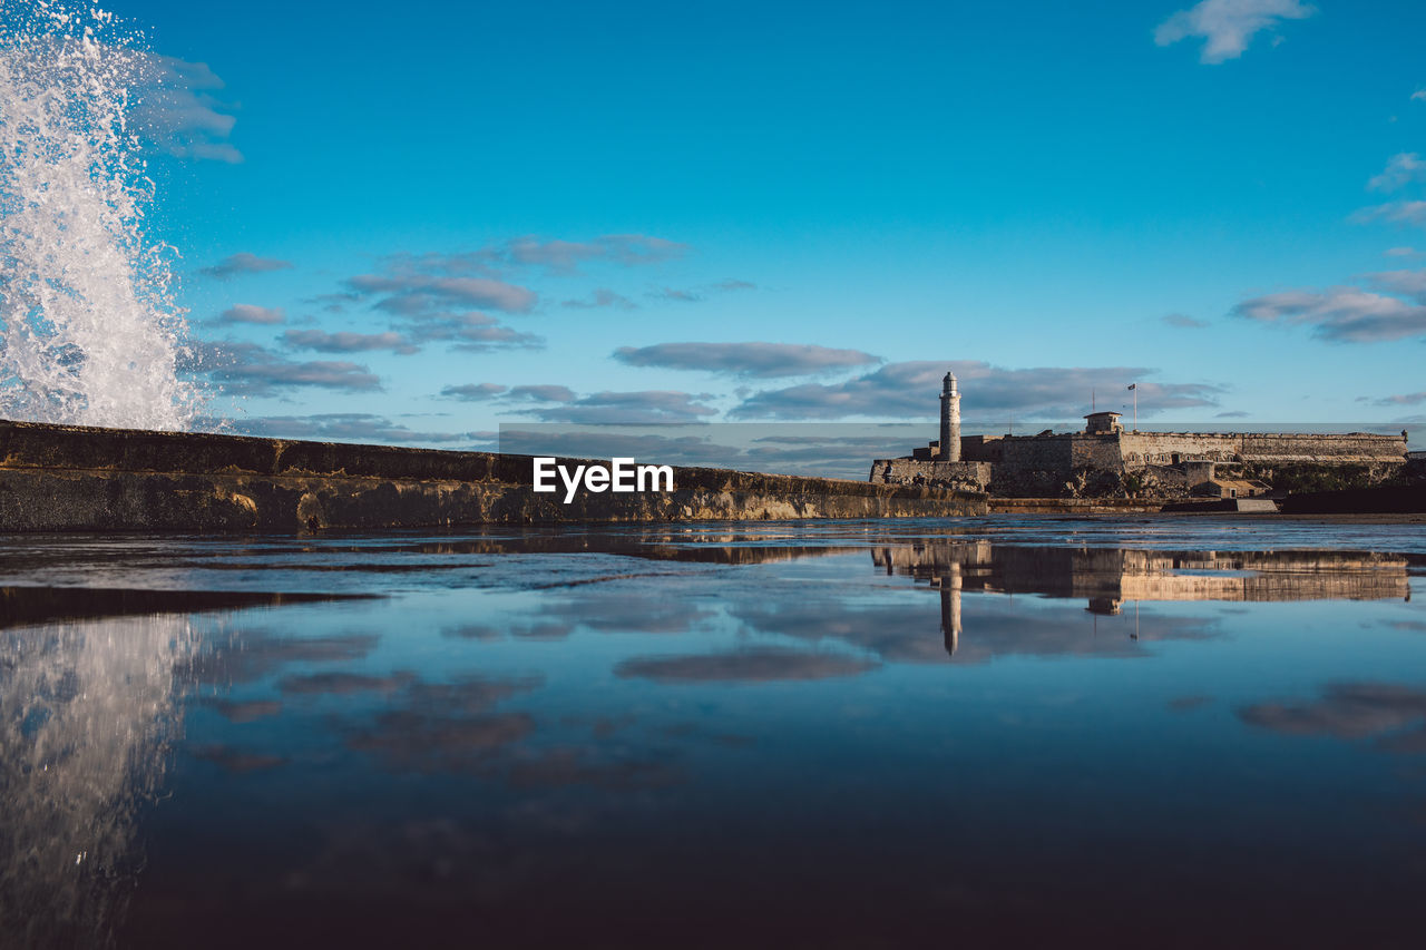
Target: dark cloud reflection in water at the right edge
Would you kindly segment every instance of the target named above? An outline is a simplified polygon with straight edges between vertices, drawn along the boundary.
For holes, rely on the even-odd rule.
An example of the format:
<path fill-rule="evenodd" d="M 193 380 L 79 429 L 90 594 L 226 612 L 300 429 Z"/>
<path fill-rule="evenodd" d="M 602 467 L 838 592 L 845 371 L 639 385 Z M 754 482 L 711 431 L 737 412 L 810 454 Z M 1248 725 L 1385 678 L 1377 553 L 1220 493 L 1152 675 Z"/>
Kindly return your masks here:
<path fill-rule="evenodd" d="M 1426 692 L 1396 683 L 1330 683 L 1322 699 L 1308 703 L 1258 703 L 1238 710 L 1239 719 L 1273 732 L 1299 736 L 1363 739 L 1426 723 Z M 1379 745 L 1416 752 L 1426 736 L 1392 736 Z"/>

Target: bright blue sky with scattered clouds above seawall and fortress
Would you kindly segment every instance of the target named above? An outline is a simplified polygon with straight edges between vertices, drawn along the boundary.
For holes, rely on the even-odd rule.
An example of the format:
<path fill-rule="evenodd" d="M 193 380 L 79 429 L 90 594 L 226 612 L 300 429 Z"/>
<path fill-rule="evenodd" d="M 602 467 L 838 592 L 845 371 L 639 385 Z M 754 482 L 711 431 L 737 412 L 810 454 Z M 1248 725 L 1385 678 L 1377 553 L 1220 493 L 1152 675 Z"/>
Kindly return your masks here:
<path fill-rule="evenodd" d="M 113 6 L 245 431 L 1426 421 L 1419 1 Z"/>

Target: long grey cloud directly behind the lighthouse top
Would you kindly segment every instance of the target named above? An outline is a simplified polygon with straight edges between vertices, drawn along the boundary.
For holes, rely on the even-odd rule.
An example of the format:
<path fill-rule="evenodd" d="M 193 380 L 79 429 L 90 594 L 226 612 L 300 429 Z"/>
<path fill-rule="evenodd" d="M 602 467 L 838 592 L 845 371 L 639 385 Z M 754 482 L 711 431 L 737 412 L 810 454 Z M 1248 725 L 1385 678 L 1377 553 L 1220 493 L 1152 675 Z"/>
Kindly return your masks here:
<path fill-rule="evenodd" d="M 1079 415 L 1091 391 L 1104 405 L 1138 382 L 1139 412 L 1204 408 L 1216 404 L 1222 387 L 1158 384 L 1147 367 L 1037 367 L 1007 369 L 980 361 L 890 362 L 874 372 L 836 384 L 809 382 L 747 397 L 730 415 L 773 419 L 844 419 L 853 417 L 920 419 L 937 412 L 937 394 L 947 369 L 961 387 L 964 412 L 1007 412 L 1017 417 Z M 1122 399 L 1121 399 L 1122 401 Z"/>

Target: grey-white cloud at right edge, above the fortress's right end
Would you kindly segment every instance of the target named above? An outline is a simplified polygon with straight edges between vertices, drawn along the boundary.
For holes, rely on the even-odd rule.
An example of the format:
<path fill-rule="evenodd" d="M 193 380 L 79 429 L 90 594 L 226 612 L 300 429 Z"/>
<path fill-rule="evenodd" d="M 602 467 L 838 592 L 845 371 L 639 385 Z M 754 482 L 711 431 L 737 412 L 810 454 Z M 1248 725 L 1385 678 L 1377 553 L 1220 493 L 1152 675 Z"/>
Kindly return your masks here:
<path fill-rule="evenodd" d="M 1330 287 L 1323 291 L 1293 290 L 1245 300 L 1233 315 L 1265 324 L 1312 327 L 1315 337 L 1333 342 L 1379 342 L 1426 335 L 1426 271 L 1369 274 L 1378 287 L 1396 294 L 1413 294 L 1415 301 L 1362 290 Z"/>

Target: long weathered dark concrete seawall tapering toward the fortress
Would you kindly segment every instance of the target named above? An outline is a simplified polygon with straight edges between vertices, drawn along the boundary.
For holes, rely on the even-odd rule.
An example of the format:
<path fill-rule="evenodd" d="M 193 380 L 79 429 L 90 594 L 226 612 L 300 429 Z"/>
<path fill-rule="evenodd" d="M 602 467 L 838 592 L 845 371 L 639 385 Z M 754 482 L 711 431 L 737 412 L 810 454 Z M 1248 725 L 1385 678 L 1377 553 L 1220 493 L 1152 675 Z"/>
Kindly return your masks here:
<path fill-rule="evenodd" d="M 560 459 L 579 464 L 579 459 Z M 607 459 L 606 459 L 607 461 Z M 656 462 L 656 459 L 642 459 Z M 532 458 L 0 421 L 0 531 L 312 531 L 984 514 L 983 495 L 676 468 L 673 492 L 536 494 Z"/>

